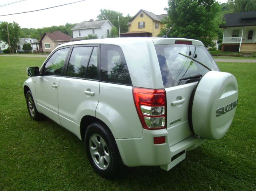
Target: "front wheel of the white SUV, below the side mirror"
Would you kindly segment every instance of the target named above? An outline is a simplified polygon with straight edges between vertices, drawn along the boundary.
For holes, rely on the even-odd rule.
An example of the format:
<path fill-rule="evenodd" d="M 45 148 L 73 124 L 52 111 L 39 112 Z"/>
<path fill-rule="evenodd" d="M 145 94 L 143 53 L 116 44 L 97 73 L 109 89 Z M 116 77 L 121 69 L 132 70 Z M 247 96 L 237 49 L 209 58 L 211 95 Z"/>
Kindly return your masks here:
<path fill-rule="evenodd" d="M 27 91 L 26 93 L 26 102 L 27 102 L 27 108 L 28 108 L 28 113 L 30 117 L 35 121 L 42 120 L 43 115 L 37 111 L 34 103 L 34 99 L 30 90 Z"/>

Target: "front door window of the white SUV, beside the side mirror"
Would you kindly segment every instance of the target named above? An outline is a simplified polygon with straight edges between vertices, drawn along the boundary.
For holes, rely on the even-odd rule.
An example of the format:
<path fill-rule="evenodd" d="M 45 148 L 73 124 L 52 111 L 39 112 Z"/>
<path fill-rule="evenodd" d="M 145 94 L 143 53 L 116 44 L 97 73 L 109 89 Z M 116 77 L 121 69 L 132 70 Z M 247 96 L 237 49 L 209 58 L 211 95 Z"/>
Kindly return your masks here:
<path fill-rule="evenodd" d="M 44 66 L 44 75 L 62 75 L 63 66 L 68 55 L 69 48 L 59 49 L 50 57 Z"/>

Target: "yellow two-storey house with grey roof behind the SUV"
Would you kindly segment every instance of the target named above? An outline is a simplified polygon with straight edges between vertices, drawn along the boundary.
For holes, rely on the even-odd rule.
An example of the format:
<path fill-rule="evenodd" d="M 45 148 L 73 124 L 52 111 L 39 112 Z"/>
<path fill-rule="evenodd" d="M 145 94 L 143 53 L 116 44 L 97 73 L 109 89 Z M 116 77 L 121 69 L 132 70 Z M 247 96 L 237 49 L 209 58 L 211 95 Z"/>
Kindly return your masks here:
<path fill-rule="evenodd" d="M 164 24 L 161 22 L 168 14 L 156 15 L 141 9 L 128 22 L 129 32 L 121 33 L 121 37 L 156 37 Z"/>

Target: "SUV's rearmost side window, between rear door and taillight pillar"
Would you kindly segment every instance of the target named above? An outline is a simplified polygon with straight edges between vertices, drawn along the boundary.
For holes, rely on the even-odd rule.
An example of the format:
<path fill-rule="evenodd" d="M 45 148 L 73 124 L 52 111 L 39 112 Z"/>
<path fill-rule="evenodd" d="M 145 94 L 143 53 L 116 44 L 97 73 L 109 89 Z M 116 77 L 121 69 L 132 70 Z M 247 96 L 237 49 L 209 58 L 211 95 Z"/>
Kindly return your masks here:
<path fill-rule="evenodd" d="M 101 45 L 100 48 L 101 81 L 131 85 L 131 79 L 120 47 Z"/>

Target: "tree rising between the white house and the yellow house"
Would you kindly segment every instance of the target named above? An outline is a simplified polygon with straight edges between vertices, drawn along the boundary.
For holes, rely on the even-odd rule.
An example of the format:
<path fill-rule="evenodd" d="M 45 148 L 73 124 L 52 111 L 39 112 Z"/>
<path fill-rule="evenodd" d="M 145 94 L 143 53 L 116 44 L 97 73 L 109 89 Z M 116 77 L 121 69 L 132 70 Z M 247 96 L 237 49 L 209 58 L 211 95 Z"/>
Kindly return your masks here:
<path fill-rule="evenodd" d="M 114 10 L 100 9 L 100 14 L 97 16 L 98 20 L 109 20 L 118 29 L 118 16 L 120 24 L 120 33 L 128 32 L 127 23 L 132 18 L 129 14 L 123 16 L 122 13 Z"/>

